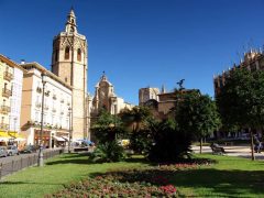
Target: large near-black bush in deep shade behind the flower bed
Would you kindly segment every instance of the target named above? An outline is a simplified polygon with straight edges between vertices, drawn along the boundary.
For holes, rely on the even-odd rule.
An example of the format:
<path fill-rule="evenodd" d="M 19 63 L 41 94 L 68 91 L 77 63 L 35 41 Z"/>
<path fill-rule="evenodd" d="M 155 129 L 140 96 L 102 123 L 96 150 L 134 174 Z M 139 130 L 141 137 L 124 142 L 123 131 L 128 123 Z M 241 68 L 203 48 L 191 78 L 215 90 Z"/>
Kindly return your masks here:
<path fill-rule="evenodd" d="M 191 136 L 179 131 L 175 121 L 164 120 L 152 124 L 154 144 L 148 158 L 154 162 L 178 162 L 189 157 Z"/>

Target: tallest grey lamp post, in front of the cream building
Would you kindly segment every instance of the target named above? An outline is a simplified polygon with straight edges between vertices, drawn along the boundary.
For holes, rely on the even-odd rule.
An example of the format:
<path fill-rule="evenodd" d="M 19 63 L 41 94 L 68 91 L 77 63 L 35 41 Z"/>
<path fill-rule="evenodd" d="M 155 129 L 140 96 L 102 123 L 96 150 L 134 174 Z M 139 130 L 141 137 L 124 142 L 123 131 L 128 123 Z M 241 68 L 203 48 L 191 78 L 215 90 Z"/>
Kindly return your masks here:
<path fill-rule="evenodd" d="M 43 166 L 43 117 L 44 117 L 44 97 L 45 97 L 45 84 L 46 84 L 46 75 L 42 73 L 42 113 L 41 113 L 41 140 L 40 140 L 40 152 L 37 158 L 37 165 Z"/>

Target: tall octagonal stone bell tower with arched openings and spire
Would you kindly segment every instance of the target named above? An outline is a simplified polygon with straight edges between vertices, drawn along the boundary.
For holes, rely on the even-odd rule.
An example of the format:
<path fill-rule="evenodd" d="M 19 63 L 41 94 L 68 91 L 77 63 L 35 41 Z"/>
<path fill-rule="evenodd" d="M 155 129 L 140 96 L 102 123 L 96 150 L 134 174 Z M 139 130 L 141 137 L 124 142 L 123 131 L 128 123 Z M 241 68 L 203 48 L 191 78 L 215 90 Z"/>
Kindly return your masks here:
<path fill-rule="evenodd" d="M 70 9 L 65 31 L 53 40 L 52 72 L 73 87 L 73 140 L 88 136 L 87 69 L 88 46 L 85 35 L 78 34 L 76 16 Z"/>

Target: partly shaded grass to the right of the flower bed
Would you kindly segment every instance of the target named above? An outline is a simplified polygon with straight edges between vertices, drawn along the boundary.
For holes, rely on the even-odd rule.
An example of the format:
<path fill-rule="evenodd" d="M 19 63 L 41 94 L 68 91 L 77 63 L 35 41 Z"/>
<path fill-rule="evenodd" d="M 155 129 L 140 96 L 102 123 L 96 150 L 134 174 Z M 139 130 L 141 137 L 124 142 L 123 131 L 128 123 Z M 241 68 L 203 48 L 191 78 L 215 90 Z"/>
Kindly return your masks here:
<path fill-rule="evenodd" d="M 246 158 L 199 155 L 219 163 L 174 175 L 179 191 L 198 197 L 264 197 L 264 162 Z"/>

